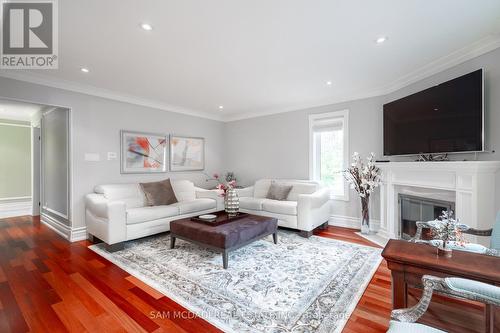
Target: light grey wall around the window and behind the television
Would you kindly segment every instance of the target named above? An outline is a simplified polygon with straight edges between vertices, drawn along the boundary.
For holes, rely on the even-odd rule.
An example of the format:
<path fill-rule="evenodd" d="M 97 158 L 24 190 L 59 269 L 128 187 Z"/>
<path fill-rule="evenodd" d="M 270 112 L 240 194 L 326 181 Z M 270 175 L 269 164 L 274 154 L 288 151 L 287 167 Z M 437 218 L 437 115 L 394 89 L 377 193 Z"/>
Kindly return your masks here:
<path fill-rule="evenodd" d="M 478 160 L 500 160 L 500 49 L 440 72 L 391 94 L 333 104 L 295 112 L 233 121 L 226 124 L 227 168 L 244 184 L 264 177 L 308 178 L 308 115 L 349 109 L 350 153 L 366 155 L 383 152 L 383 104 L 428 88 L 434 84 L 483 68 L 485 71 L 485 127 L 487 149 L 495 153 L 478 154 Z M 474 154 L 457 154 L 452 159 L 474 159 Z M 392 158 L 392 160 L 412 160 Z M 500 193 L 500 184 L 497 186 Z M 333 214 L 359 217 L 360 205 L 355 193 L 350 201 L 334 201 Z M 378 196 L 372 200 L 372 217 L 378 219 Z M 498 204 L 500 208 L 500 203 Z"/>

